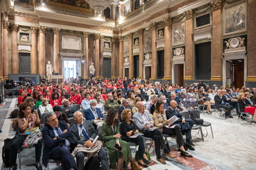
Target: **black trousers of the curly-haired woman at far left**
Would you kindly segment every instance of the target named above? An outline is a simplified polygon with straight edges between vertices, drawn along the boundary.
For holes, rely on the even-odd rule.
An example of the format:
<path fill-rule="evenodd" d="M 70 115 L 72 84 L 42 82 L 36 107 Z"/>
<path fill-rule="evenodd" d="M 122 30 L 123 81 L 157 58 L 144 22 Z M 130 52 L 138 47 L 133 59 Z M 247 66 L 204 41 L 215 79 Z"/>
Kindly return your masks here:
<path fill-rule="evenodd" d="M 18 135 L 18 137 L 12 141 L 12 144 L 10 146 L 10 160 L 11 160 L 11 166 L 16 165 L 16 159 L 18 154 L 18 148 L 23 146 L 23 142 L 27 138 L 27 135 Z M 40 157 L 42 153 L 42 139 L 38 141 L 38 143 L 35 145 L 35 163 L 40 162 Z"/>

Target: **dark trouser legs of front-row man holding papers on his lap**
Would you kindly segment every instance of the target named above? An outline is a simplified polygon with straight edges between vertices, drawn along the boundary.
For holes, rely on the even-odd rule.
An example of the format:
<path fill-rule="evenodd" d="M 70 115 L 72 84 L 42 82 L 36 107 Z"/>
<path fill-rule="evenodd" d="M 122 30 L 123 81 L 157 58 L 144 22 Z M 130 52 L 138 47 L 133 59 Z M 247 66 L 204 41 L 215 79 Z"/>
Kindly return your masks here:
<path fill-rule="evenodd" d="M 85 162 L 84 162 L 85 156 L 86 156 L 85 152 L 76 153 L 76 165 L 79 169 L 84 169 L 85 167 Z M 109 170 L 108 158 L 106 156 L 106 151 L 103 148 L 100 148 L 100 151 L 98 152 L 98 158 L 100 159 L 102 168 L 104 170 Z"/>

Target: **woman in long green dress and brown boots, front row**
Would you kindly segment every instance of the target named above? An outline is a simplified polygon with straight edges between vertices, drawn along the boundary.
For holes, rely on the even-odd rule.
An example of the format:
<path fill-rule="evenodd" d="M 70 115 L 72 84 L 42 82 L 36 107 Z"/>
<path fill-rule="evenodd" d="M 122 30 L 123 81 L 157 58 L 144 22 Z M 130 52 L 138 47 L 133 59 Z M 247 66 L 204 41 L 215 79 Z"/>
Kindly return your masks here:
<path fill-rule="evenodd" d="M 111 168 L 117 170 L 122 169 L 124 161 L 127 165 L 128 160 L 130 160 L 132 169 L 141 169 L 135 164 L 128 143 L 126 141 L 122 141 L 120 137 L 118 112 L 117 109 L 111 108 L 109 109 L 106 120 L 102 125 L 102 139 L 106 150 L 109 152 Z M 116 143 L 118 146 L 122 147 L 121 151 L 115 149 Z"/>

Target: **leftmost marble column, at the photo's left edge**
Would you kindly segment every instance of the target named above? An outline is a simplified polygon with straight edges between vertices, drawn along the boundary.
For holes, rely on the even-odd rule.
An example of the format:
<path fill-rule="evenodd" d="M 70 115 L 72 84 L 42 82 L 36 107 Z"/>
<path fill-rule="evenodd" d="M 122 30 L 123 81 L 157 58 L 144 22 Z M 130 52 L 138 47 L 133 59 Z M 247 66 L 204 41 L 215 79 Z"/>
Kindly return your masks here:
<path fill-rule="evenodd" d="M 9 46 L 8 46 L 8 29 L 9 22 L 3 21 L 3 76 L 5 80 L 9 78 Z"/>

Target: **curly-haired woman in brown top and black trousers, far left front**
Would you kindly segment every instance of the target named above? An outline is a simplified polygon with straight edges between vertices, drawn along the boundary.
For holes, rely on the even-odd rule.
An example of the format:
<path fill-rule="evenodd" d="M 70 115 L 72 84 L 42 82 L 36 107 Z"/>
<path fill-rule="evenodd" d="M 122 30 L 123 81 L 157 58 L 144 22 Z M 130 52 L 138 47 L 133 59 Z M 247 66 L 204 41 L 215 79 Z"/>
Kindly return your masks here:
<path fill-rule="evenodd" d="M 10 146 L 10 169 L 16 169 L 16 159 L 18 148 L 23 146 L 23 142 L 27 138 L 26 129 L 33 129 L 37 126 L 40 126 L 40 119 L 38 112 L 34 110 L 31 112 L 31 105 L 29 103 L 23 103 L 19 106 L 18 111 L 18 129 L 19 134 L 14 141 L 12 141 Z M 35 168 L 42 169 L 40 164 L 40 157 L 42 152 L 42 139 L 38 140 L 38 143 L 35 145 Z"/>

